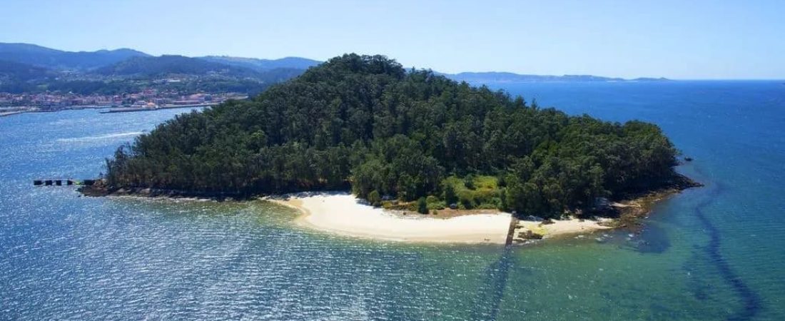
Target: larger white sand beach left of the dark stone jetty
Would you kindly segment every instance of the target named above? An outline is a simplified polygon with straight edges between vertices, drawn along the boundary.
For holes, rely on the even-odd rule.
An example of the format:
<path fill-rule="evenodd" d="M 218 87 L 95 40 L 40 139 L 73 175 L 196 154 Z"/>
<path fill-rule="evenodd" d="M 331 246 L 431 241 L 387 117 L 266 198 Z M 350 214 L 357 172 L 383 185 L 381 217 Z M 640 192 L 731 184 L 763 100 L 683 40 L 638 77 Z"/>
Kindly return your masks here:
<path fill-rule="evenodd" d="M 349 194 L 290 195 L 269 199 L 303 211 L 296 222 L 324 232 L 372 239 L 428 243 L 504 244 L 509 213 L 487 213 L 451 218 L 406 216 L 363 205 Z"/>

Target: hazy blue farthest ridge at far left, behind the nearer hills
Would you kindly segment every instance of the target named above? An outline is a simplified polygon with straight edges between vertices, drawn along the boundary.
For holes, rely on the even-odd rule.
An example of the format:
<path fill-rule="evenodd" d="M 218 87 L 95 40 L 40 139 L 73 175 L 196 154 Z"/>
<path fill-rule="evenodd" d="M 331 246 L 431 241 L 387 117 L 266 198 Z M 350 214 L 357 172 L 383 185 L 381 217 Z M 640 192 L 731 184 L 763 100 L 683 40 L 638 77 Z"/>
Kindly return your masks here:
<path fill-rule="evenodd" d="M 70 52 L 26 43 L 0 43 L 0 60 L 52 69 L 89 70 L 130 57 L 148 56 L 133 49 Z"/>

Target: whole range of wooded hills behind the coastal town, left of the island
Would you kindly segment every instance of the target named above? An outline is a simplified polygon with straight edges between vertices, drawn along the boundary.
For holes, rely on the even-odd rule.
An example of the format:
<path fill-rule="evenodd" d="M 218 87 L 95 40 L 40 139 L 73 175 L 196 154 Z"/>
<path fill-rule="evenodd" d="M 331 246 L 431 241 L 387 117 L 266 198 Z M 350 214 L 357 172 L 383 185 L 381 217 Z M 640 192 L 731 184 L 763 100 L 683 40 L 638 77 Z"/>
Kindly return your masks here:
<path fill-rule="evenodd" d="M 0 43 L 0 92 L 131 93 L 142 89 L 250 95 L 301 75 L 318 61 L 165 55 L 132 49 L 67 52 L 24 43 Z M 177 78 L 178 82 L 166 82 Z"/>

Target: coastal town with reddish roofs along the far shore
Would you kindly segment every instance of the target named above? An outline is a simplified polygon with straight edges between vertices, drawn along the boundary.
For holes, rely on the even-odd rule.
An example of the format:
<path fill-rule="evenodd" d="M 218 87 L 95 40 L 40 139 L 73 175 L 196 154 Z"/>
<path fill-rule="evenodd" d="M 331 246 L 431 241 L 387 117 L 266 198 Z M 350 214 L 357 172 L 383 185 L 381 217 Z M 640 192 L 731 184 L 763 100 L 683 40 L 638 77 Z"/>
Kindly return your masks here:
<path fill-rule="evenodd" d="M 77 93 L 0 93 L 0 116 L 24 112 L 63 111 L 85 108 L 113 108 L 113 111 L 143 111 L 158 108 L 211 106 L 226 100 L 243 100 L 243 93 L 193 93 L 147 89 L 117 95 Z"/>

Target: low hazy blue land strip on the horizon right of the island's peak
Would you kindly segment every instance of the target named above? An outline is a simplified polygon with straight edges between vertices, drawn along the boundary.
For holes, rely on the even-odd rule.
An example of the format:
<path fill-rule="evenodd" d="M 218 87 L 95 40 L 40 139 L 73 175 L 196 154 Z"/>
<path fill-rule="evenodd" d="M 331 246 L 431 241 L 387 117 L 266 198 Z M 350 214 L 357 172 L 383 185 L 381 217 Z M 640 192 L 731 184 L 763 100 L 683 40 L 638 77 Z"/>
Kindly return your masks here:
<path fill-rule="evenodd" d="M 442 74 L 458 82 L 500 83 L 500 82 L 626 82 L 626 81 L 662 81 L 666 78 L 611 78 L 595 75 L 520 75 L 512 72 L 462 72 L 459 74 Z"/>

